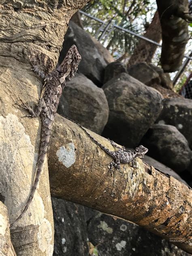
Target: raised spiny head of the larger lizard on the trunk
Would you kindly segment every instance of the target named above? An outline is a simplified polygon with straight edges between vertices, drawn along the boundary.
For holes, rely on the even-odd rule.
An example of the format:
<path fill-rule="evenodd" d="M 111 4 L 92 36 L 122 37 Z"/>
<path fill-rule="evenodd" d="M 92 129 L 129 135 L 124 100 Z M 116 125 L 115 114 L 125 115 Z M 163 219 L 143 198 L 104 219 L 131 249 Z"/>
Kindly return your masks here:
<path fill-rule="evenodd" d="M 81 55 L 79 54 L 76 45 L 72 45 L 64 60 L 56 69 L 59 73 L 61 83 L 64 83 L 74 77 L 80 61 Z"/>

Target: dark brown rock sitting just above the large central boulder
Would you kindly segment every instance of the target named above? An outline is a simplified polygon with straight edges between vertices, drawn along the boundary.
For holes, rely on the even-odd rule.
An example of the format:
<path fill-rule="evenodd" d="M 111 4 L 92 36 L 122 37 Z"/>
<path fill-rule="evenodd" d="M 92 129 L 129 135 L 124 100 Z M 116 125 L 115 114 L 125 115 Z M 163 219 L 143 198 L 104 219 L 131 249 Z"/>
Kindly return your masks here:
<path fill-rule="evenodd" d="M 146 62 L 140 62 L 132 65 L 127 69 L 127 71 L 130 76 L 141 81 L 145 85 L 152 86 L 154 83 L 161 83 L 159 74 Z"/>

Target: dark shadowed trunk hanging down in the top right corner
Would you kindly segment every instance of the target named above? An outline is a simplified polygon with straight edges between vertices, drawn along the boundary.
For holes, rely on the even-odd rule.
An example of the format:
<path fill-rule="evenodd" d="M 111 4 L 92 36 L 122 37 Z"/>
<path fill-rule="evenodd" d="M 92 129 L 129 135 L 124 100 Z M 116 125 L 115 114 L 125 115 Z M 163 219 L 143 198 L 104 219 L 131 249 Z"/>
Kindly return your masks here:
<path fill-rule="evenodd" d="M 192 22 L 188 0 L 156 0 L 162 27 L 161 66 L 165 72 L 174 72 L 182 64 L 188 42 L 188 23 Z"/>

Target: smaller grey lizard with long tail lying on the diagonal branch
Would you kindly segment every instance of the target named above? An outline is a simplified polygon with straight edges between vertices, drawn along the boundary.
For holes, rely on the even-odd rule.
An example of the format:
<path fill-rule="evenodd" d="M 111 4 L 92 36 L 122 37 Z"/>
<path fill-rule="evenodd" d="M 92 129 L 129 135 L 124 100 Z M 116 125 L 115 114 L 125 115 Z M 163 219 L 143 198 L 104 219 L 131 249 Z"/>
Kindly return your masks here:
<path fill-rule="evenodd" d="M 98 145 L 102 150 L 104 150 L 109 156 L 113 158 L 113 161 L 111 161 L 110 163 L 110 171 L 112 170 L 113 167 L 115 169 L 120 169 L 120 163 L 122 164 L 130 163 L 134 168 L 137 167 L 135 158 L 136 157 L 143 158 L 148 151 L 146 147 L 143 147 L 142 145 L 140 145 L 139 147 L 135 148 L 134 152 L 132 152 L 130 150 L 126 150 L 125 147 L 119 147 L 114 141 L 111 141 L 110 139 L 108 139 L 111 142 L 111 145 L 118 149 L 117 151 L 111 151 L 106 147 L 104 147 L 103 145 L 101 145 L 98 141 L 96 141 L 96 139 L 94 139 L 94 137 L 92 137 L 91 134 L 89 134 L 87 130 L 85 130 L 85 128 L 81 126 L 81 124 L 78 124 L 77 122 L 71 120 L 68 117 L 65 117 L 65 118 L 77 124 L 96 145 Z"/>

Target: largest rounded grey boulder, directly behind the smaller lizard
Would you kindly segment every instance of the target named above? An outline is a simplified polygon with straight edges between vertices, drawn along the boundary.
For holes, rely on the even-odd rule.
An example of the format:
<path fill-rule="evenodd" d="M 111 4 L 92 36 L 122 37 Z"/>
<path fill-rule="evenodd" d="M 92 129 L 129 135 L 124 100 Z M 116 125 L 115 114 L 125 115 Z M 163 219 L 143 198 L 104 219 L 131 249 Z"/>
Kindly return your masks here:
<path fill-rule="evenodd" d="M 103 86 L 109 104 L 109 120 L 103 136 L 135 147 L 162 110 L 162 95 L 126 73 Z"/>

